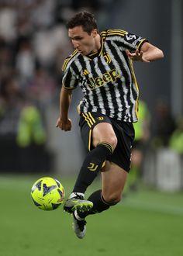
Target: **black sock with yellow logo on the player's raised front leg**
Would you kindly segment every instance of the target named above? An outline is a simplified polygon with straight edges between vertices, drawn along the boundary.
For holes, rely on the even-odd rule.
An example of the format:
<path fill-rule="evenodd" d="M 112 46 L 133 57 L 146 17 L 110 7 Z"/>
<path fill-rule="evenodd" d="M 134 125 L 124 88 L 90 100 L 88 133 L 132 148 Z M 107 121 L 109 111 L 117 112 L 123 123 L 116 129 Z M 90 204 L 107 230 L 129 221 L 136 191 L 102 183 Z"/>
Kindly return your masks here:
<path fill-rule="evenodd" d="M 98 172 L 102 169 L 102 164 L 112 154 L 113 149 L 110 144 L 102 142 L 91 150 L 81 166 L 77 181 L 74 185 L 73 192 L 85 193 L 89 185 L 94 181 Z"/>

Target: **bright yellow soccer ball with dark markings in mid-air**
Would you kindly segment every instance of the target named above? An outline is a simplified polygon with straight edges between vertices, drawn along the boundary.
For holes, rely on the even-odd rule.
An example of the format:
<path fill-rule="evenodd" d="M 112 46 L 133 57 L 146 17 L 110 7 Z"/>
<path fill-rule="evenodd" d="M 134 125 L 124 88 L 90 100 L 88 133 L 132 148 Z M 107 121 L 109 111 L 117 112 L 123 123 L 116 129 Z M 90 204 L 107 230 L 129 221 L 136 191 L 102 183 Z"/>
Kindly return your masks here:
<path fill-rule="evenodd" d="M 46 211 L 57 209 L 64 202 L 64 195 L 63 185 L 50 177 L 38 179 L 31 189 L 34 205 Z"/>

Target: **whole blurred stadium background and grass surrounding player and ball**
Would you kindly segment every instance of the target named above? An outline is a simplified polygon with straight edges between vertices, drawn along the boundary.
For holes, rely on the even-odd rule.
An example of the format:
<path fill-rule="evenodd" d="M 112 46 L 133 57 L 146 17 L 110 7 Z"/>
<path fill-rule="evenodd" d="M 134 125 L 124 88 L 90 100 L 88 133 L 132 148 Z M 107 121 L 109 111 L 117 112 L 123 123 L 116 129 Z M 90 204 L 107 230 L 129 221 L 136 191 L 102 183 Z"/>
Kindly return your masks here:
<path fill-rule="evenodd" d="M 124 29 L 164 50 L 162 61 L 135 64 L 143 113 L 126 197 L 88 217 L 82 244 L 70 216 L 41 212 L 29 198 L 42 175 L 56 176 L 68 195 L 85 156 L 78 89 L 72 132 L 55 127 L 61 65 L 72 51 L 64 22 L 81 10 L 95 13 L 100 30 Z M 182 24 L 181 0 L 0 0 L 1 256 L 183 254 Z"/>

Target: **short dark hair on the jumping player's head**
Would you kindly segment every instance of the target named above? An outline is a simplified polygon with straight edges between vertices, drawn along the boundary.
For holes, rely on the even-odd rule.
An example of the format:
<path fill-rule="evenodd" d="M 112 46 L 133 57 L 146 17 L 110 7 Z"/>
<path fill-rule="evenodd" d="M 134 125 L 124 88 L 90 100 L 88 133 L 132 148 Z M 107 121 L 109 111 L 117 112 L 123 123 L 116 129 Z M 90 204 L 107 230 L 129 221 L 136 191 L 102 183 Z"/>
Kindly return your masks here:
<path fill-rule="evenodd" d="M 79 12 L 67 22 L 67 29 L 73 29 L 75 26 L 82 26 L 83 30 L 91 34 L 93 29 L 98 29 L 95 16 L 90 12 Z"/>

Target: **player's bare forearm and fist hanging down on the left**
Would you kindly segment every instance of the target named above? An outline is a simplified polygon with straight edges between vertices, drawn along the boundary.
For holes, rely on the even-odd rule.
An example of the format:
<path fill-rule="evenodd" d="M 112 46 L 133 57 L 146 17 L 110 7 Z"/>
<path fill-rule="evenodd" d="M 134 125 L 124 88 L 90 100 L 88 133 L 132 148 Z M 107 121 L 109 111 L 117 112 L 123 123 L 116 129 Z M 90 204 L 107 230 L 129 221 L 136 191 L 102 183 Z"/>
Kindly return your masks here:
<path fill-rule="evenodd" d="M 61 130 L 68 131 L 71 130 L 71 119 L 68 118 L 69 106 L 71 105 L 72 90 L 61 88 L 60 91 L 60 116 L 57 119 L 56 127 Z"/>

